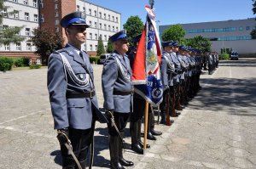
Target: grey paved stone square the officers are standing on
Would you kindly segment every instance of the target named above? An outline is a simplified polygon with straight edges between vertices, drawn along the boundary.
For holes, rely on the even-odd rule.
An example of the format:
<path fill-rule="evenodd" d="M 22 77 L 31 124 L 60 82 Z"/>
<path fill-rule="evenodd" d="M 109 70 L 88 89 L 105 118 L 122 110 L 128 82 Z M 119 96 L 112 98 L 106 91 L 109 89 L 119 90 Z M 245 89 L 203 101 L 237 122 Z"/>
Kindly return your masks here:
<path fill-rule="evenodd" d="M 256 59 L 222 61 L 213 75 L 201 75 L 202 89 L 144 155 L 130 149 L 127 168 L 256 168 Z M 102 65 L 94 65 L 102 106 Z M 0 73 L 0 168 L 61 168 L 46 88 L 47 69 Z M 108 130 L 96 123 L 94 168 L 108 168 Z"/>

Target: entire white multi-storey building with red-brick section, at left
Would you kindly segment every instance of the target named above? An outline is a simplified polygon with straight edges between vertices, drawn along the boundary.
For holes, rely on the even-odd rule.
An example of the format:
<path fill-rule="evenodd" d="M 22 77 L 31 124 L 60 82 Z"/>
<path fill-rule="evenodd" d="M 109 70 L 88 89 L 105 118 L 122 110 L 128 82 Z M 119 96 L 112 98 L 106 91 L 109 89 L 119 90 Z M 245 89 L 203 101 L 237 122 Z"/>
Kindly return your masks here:
<path fill-rule="evenodd" d="M 108 38 L 121 29 L 121 14 L 109 8 L 89 3 L 85 0 L 6 0 L 2 11 L 3 29 L 11 26 L 23 26 L 20 37 L 25 40 L 16 44 L 1 45 L 0 56 L 28 57 L 32 63 L 40 64 L 40 57 L 34 54 L 36 48 L 28 40 L 33 36 L 32 30 L 37 27 L 49 28 L 59 32 L 67 43 L 65 30 L 61 28 L 61 18 L 66 14 L 82 11 L 90 25 L 87 29 L 87 40 L 82 46 L 90 55 L 96 55 L 98 38 L 102 37 L 107 48 Z M 16 14 L 8 14 L 15 11 Z M 0 28 L 1 28 L 0 27 Z"/>

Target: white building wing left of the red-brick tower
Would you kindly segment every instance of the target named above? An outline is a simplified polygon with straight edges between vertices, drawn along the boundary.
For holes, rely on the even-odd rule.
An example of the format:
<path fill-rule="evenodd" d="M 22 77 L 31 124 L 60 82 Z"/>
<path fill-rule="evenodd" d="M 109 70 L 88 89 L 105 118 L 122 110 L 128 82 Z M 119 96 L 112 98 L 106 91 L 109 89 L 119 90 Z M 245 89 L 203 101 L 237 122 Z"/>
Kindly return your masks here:
<path fill-rule="evenodd" d="M 25 40 L 15 44 L 0 45 L 0 56 L 28 57 L 33 60 L 33 63 L 40 64 L 39 56 L 34 54 L 35 47 L 32 46 L 32 42 L 29 42 L 33 36 L 32 30 L 38 27 L 38 0 L 7 0 L 4 6 L 9 8 L 2 11 L 2 29 L 22 26 L 19 35 L 25 37 Z M 15 14 L 8 14 L 14 11 Z"/>

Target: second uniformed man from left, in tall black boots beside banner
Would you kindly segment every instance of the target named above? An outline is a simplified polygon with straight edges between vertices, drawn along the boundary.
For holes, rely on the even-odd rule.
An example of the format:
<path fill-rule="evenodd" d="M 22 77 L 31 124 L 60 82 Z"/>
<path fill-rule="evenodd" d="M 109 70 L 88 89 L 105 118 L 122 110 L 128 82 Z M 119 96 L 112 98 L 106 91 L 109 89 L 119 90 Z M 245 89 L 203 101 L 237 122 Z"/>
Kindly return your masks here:
<path fill-rule="evenodd" d="M 114 52 L 103 65 L 102 90 L 106 115 L 114 121 L 114 124 L 108 124 L 110 166 L 119 169 L 133 166 L 133 162 L 124 159 L 122 144 L 125 126 L 132 112 L 133 86 L 130 61 L 125 54 L 129 48 L 125 31 L 115 33 L 109 40 L 113 42 Z"/>

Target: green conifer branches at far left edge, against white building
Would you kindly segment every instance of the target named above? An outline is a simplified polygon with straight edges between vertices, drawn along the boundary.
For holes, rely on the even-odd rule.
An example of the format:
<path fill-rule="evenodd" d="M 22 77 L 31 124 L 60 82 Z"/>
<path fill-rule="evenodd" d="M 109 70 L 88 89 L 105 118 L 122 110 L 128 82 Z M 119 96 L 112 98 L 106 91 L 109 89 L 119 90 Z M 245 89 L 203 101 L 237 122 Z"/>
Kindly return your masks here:
<path fill-rule="evenodd" d="M 11 10 L 9 6 L 5 6 L 4 0 L 0 0 L 0 44 L 9 45 L 10 43 L 22 42 L 24 37 L 19 36 L 20 30 L 24 27 L 18 26 L 5 26 L 3 27 L 3 18 L 9 17 L 9 15 L 16 14 L 18 11 L 8 11 Z"/>

